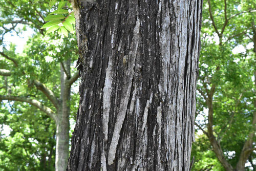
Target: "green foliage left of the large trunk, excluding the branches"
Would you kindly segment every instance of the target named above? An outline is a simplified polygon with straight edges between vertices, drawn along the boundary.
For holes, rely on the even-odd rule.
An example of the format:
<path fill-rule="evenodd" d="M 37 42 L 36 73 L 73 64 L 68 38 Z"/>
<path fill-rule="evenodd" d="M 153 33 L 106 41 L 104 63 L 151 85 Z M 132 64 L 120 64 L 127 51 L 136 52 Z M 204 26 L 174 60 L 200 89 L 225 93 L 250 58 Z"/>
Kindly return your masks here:
<path fill-rule="evenodd" d="M 33 81 L 44 83 L 59 99 L 60 62 L 70 61 L 70 65 L 73 66 L 78 50 L 75 35 L 68 34 L 65 27 L 60 29 L 67 37 L 59 36 L 57 33 L 45 35 L 45 30 L 40 29 L 44 24 L 50 23 L 44 21 L 46 14 L 53 11 L 48 2 L 0 1 L 0 52 L 17 63 L 15 66 L 12 60 L 0 55 L 0 69 L 11 71 L 11 76 L 0 76 L 0 95 L 36 99 L 56 112 L 52 102 L 36 88 Z M 68 7 L 64 6 L 58 10 L 58 5 L 54 6 L 56 1 L 51 3 L 55 9 L 51 15 L 68 16 Z M 67 18 L 70 23 L 74 23 L 72 18 Z M 56 23 L 52 26 L 56 26 Z M 9 44 L 6 37 L 8 34 L 22 35 L 20 33 L 28 28 L 32 28 L 34 32 L 28 39 L 23 53 L 17 53 L 15 44 Z M 71 74 L 74 75 L 75 72 L 76 69 L 71 67 Z M 71 92 L 70 114 L 74 121 L 79 97 L 73 88 Z M 7 100 L 0 102 L 0 170 L 54 170 L 54 121 L 31 104 Z M 6 127 L 11 129 L 9 135 L 6 134 Z"/>

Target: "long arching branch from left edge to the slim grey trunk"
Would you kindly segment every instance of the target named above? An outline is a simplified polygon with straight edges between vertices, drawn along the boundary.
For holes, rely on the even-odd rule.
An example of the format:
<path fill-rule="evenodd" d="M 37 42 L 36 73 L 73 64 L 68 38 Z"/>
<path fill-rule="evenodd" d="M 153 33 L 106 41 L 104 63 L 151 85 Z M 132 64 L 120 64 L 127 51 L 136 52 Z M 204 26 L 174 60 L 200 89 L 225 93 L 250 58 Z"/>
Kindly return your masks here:
<path fill-rule="evenodd" d="M 38 108 L 40 111 L 45 112 L 48 116 L 50 116 L 54 121 L 56 121 L 56 115 L 55 113 L 48 108 L 47 106 L 43 105 L 41 102 L 26 98 L 26 97 L 19 97 L 19 96 L 2 96 L 0 95 L 0 100 L 12 100 L 12 101 L 21 101 L 21 102 L 27 102 L 36 108 Z"/>

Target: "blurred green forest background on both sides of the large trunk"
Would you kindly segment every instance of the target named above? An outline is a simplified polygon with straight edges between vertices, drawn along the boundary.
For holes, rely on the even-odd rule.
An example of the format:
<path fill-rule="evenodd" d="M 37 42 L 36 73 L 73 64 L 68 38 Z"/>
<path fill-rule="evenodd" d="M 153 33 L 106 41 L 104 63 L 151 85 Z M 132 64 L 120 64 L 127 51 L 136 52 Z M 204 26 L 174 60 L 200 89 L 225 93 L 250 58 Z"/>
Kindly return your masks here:
<path fill-rule="evenodd" d="M 59 4 L 0 1 L 0 170 L 54 170 L 68 153 L 56 146 L 69 146 L 78 109 L 75 33 L 41 29 L 71 14 Z M 192 170 L 256 170 L 255 14 L 253 0 L 204 1 Z"/>

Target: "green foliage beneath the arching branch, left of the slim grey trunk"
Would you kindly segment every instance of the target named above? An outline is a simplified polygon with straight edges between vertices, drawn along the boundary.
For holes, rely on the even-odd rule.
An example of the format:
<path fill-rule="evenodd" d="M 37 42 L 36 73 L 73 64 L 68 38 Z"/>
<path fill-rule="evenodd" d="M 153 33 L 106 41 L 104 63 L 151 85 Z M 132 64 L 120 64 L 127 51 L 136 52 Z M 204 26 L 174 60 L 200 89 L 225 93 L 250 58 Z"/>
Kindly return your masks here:
<path fill-rule="evenodd" d="M 11 129 L 0 135 L 0 170 L 54 170 L 53 121 L 20 102 L 2 105 L 0 112 L 1 124 Z"/>

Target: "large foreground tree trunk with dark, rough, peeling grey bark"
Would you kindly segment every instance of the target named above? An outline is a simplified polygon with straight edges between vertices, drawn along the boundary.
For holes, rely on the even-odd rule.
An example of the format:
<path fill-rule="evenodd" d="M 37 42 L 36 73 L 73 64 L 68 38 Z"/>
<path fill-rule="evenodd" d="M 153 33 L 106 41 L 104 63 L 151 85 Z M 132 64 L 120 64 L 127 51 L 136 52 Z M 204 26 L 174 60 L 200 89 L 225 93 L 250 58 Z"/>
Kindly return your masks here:
<path fill-rule="evenodd" d="M 202 1 L 73 1 L 83 66 L 67 170 L 189 170 Z"/>

